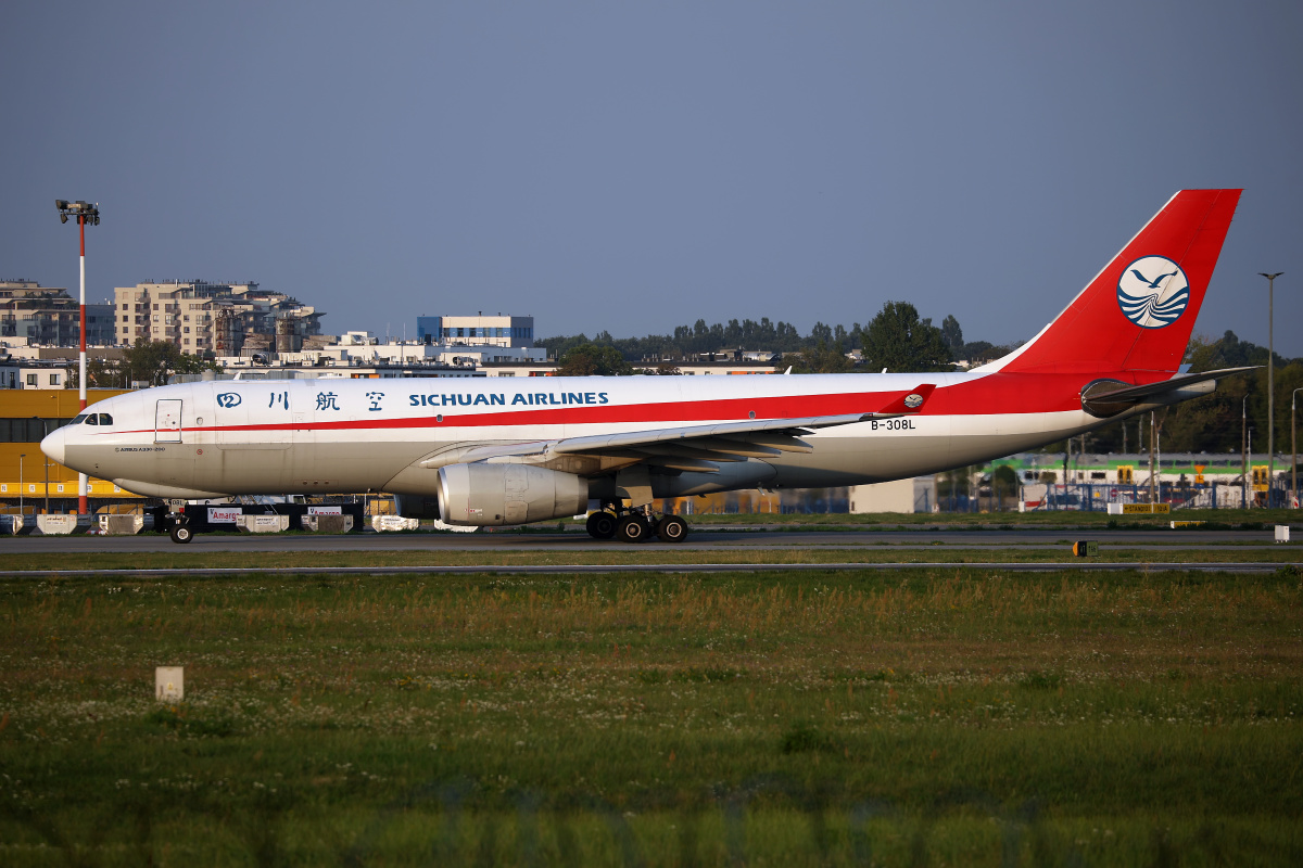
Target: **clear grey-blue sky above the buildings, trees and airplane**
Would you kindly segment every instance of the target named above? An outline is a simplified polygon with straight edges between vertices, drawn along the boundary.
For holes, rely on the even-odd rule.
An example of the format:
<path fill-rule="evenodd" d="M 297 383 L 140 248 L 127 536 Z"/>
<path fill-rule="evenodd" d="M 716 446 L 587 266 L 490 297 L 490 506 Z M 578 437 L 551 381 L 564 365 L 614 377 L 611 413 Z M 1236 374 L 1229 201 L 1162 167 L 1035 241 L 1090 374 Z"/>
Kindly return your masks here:
<path fill-rule="evenodd" d="M 0 277 L 254 280 L 326 331 L 532 314 L 1025 340 L 1181 187 L 1242 186 L 1196 333 L 1303 355 L 1303 4 L 0 7 Z"/>

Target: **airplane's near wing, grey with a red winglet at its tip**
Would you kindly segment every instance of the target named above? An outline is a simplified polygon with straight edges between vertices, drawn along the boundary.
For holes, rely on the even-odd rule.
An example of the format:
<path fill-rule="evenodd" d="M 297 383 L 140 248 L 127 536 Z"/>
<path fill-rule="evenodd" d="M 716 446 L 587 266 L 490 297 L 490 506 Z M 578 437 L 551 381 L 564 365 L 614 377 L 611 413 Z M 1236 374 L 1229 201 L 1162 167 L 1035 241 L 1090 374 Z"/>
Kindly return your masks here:
<path fill-rule="evenodd" d="M 619 465 L 646 463 L 674 470 L 698 472 L 718 471 L 714 462 L 767 458 L 784 452 L 813 452 L 801 435 L 820 428 L 848 426 L 874 419 L 895 419 L 923 410 L 936 385 L 923 384 L 902 394 L 878 411 L 852 413 L 830 416 L 801 416 L 794 419 L 748 419 L 745 422 L 719 422 L 705 426 L 678 426 L 650 428 L 624 433 L 560 437 L 530 442 L 491 444 L 472 446 L 456 454 L 456 463 L 480 461 L 509 461 L 524 458 L 541 466 L 568 465 L 566 458 L 616 459 Z M 425 466 L 450 463 L 448 457 L 435 457 Z M 592 463 L 592 462 L 585 462 Z M 609 466 L 609 461 L 599 461 Z"/>

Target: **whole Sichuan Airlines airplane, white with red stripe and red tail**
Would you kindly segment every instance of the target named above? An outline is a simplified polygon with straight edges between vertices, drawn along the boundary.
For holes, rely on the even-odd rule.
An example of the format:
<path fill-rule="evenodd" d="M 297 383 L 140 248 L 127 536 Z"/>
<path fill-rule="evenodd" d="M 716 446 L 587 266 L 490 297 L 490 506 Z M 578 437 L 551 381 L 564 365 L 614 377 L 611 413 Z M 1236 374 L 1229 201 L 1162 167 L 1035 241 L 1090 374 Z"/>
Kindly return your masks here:
<path fill-rule="evenodd" d="M 1182 190 L 1049 325 L 943 373 L 225 380 L 94 405 L 42 450 L 149 497 L 388 492 L 401 514 L 683 541 L 654 501 L 904 479 L 1212 392 L 1181 363 L 1240 190 Z M 189 541 L 184 514 L 172 539 Z"/>

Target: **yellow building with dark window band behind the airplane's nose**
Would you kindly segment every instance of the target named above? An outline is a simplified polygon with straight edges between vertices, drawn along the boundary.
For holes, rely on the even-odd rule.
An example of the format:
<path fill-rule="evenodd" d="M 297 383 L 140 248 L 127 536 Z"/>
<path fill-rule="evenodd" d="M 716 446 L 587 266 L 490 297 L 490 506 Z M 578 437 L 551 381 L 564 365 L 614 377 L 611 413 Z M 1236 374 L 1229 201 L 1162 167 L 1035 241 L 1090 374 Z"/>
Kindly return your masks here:
<path fill-rule="evenodd" d="M 86 403 L 121 394 L 124 389 L 87 389 Z M 77 505 L 77 471 L 46 458 L 40 440 L 55 428 L 68 424 L 78 413 L 77 389 L 0 389 L 0 511 L 17 511 L 20 498 L 23 511 L 40 511 L 46 502 L 47 484 L 51 511 L 53 501 L 72 498 Z M 48 479 L 48 483 L 47 483 Z M 90 480 L 87 497 L 139 500 L 111 481 Z M 21 488 L 21 497 L 20 497 Z"/>

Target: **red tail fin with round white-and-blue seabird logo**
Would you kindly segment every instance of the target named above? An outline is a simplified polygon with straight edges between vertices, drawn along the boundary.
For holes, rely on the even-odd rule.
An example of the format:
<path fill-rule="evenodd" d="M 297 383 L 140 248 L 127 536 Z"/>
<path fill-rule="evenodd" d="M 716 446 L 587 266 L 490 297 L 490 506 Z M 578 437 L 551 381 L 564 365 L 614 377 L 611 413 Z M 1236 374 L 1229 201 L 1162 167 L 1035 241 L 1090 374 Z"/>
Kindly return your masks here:
<path fill-rule="evenodd" d="M 1174 372 L 1239 190 L 1182 190 L 1031 342 L 988 371 Z"/>

